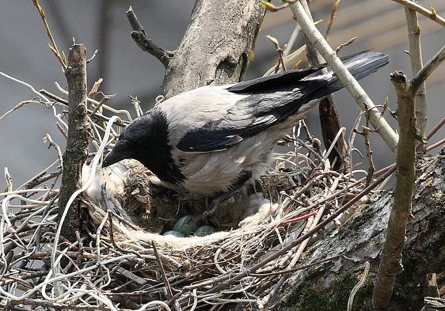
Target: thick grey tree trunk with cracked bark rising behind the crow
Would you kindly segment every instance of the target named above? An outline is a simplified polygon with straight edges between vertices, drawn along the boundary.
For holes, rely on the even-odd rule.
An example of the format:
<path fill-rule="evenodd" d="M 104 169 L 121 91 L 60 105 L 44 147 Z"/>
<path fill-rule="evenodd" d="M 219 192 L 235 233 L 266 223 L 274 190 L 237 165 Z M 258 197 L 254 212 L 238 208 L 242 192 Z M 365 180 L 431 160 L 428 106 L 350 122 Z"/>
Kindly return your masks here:
<path fill-rule="evenodd" d="M 181 44 L 166 67 L 161 94 L 243 79 L 263 21 L 258 0 L 197 0 Z"/>

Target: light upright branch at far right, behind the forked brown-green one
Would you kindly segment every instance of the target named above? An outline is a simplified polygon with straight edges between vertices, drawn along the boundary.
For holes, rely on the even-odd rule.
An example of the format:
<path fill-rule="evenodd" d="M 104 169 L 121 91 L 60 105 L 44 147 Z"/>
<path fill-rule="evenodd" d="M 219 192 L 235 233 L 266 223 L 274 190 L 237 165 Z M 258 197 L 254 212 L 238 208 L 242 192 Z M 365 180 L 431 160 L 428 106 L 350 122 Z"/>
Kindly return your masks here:
<path fill-rule="evenodd" d="M 411 68 L 413 75 L 417 74 L 424 66 L 422 60 L 422 45 L 420 43 L 420 25 L 417 18 L 417 12 L 405 6 L 406 26 L 408 29 L 409 40 L 409 58 L 411 59 Z M 426 87 L 425 81 L 416 92 L 416 126 L 420 136 L 425 136 L 427 105 L 426 105 Z M 425 145 L 423 145 L 425 149 Z"/>

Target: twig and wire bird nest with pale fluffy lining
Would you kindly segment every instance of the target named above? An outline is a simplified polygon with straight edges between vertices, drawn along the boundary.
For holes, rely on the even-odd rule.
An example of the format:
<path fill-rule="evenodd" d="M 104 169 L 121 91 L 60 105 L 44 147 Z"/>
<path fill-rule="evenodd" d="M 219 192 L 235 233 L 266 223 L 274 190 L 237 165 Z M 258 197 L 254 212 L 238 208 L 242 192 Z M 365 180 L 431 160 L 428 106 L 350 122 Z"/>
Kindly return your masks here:
<path fill-rule="evenodd" d="M 59 90 L 61 96 L 34 90 L 39 99 L 32 101 L 53 110 L 63 135 L 56 108 L 66 109 L 62 97 L 67 92 Z M 160 233 L 178 218 L 202 213 L 206 202 L 163 189 L 135 161 L 101 169 L 103 151 L 131 117 L 102 101 L 88 101 L 94 152 L 83 167 L 81 190 L 61 213 L 62 157 L 51 136 L 46 141 L 57 156 L 48 168 L 16 190 L 5 170 L 0 223 L 0 305 L 5 310 L 222 310 L 234 303 L 261 309 L 268 281 L 323 264 L 304 263 L 313 243 L 309 237 L 340 225 L 379 191 L 358 199 L 367 186 L 366 172 L 334 171 L 327 159 L 332 148 L 321 151 L 320 141 L 300 121 L 292 135 L 283 137 L 284 152 L 274 154 L 254 189 L 220 204 L 209 219 L 217 232 L 164 236 Z M 106 117 L 107 110 L 121 119 Z M 73 202 L 80 208 L 82 232 L 77 241 L 68 241 L 61 227 Z M 330 260 L 341 258 L 325 261 Z"/>

